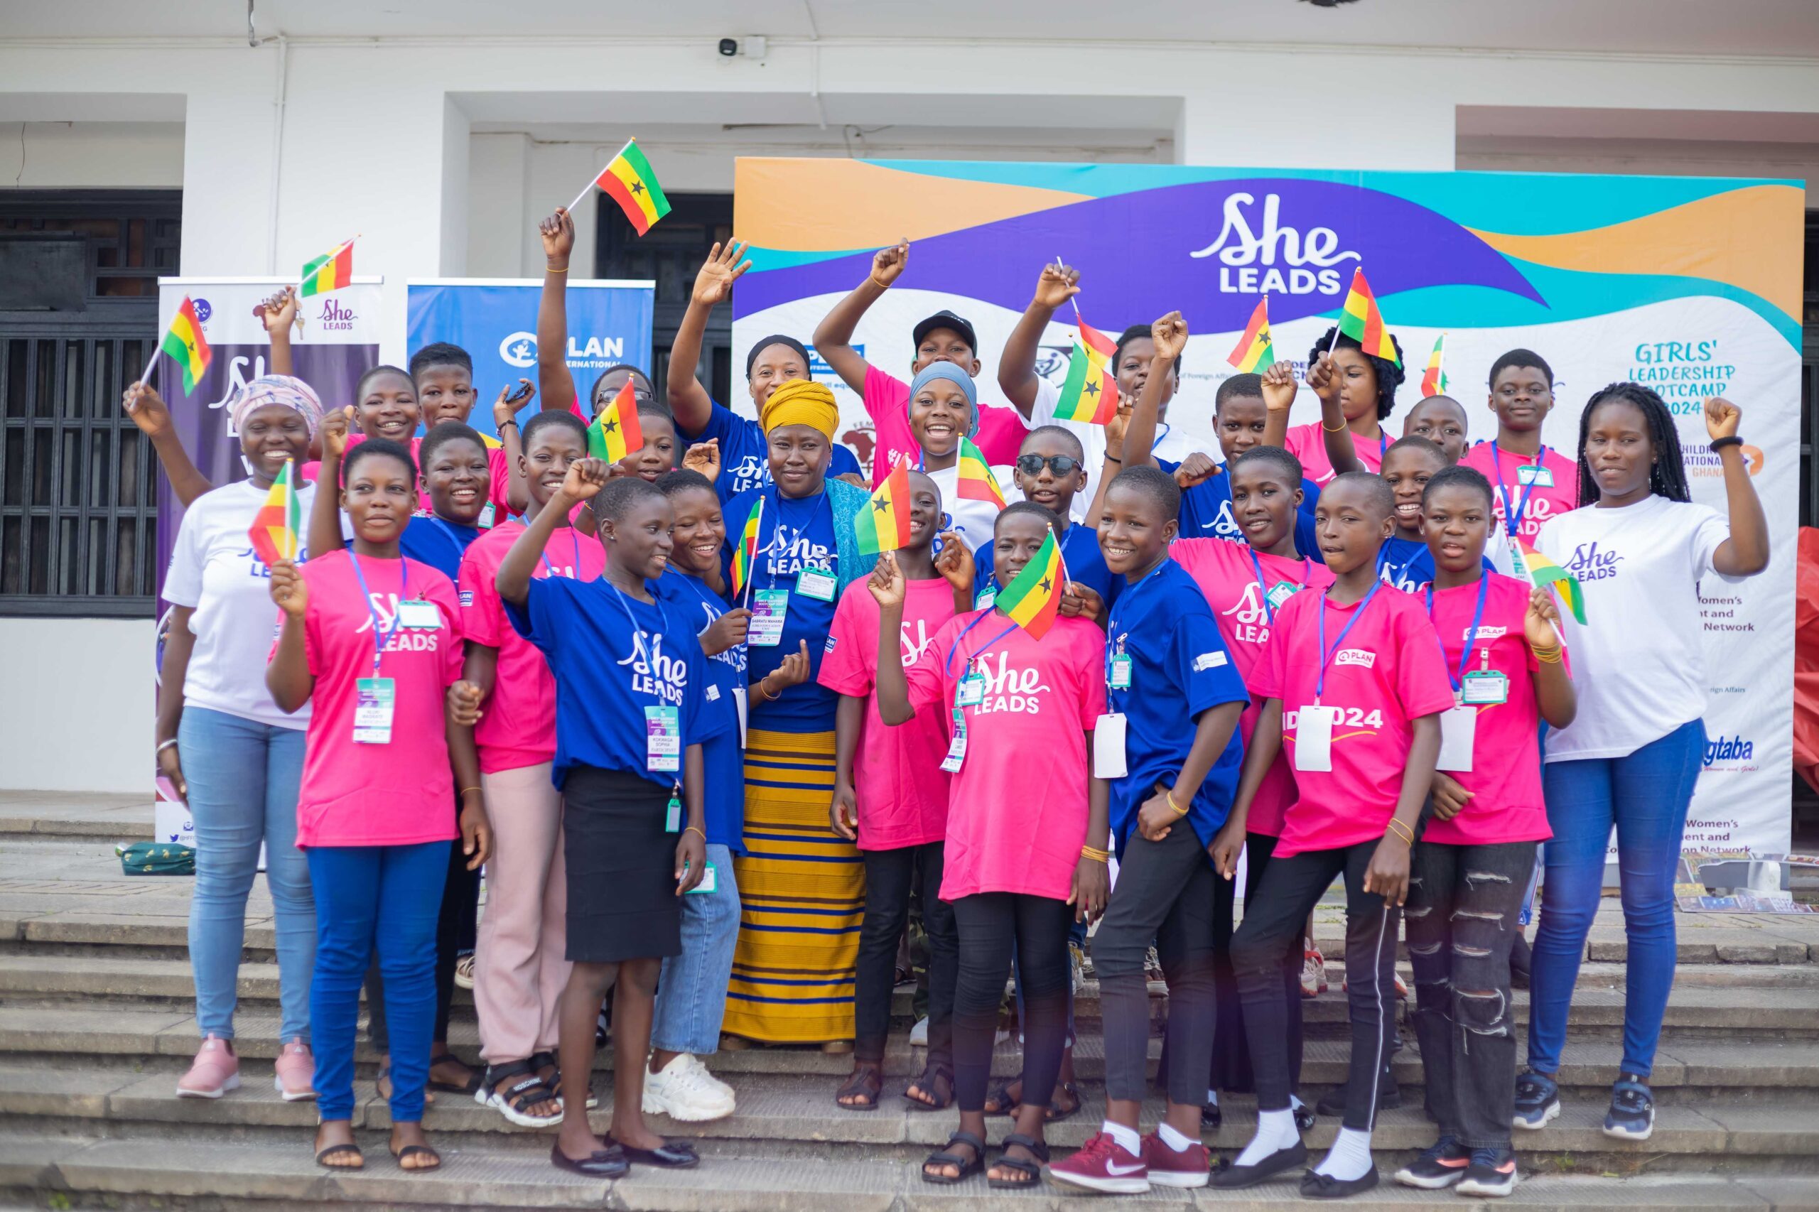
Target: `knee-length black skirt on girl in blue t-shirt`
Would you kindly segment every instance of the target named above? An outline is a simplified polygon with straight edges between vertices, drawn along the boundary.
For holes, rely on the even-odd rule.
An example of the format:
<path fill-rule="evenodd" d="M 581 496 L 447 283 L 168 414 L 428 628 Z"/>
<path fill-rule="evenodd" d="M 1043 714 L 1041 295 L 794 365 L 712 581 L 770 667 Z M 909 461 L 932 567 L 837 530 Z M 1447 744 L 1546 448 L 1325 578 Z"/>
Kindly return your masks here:
<path fill-rule="evenodd" d="M 617 963 L 682 954 L 669 788 L 624 770 L 577 766 L 562 783 L 568 959 Z"/>

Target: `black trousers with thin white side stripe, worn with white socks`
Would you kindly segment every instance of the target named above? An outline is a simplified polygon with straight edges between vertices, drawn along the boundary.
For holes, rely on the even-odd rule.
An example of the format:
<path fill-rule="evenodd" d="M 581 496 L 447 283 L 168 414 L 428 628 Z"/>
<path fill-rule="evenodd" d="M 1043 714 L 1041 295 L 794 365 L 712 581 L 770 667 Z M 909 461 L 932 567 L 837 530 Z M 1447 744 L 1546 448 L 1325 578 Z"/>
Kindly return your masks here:
<path fill-rule="evenodd" d="M 1399 910 L 1364 892 L 1364 872 L 1377 839 L 1337 850 L 1308 850 L 1271 857 L 1259 888 L 1244 906 L 1244 923 L 1231 939 L 1231 966 L 1244 1001 L 1244 1034 L 1257 1077 L 1257 1108 L 1286 1110 L 1290 1094 L 1290 1005 L 1299 992 L 1284 988 L 1282 955 L 1301 937 L 1308 912 L 1333 877 L 1346 877 L 1346 999 L 1352 1008 L 1352 1076 L 1344 1126 L 1370 1132 L 1377 1116 L 1377 1083 L 1390 1059 L 1395 1032 L 1395 932 Z"/>

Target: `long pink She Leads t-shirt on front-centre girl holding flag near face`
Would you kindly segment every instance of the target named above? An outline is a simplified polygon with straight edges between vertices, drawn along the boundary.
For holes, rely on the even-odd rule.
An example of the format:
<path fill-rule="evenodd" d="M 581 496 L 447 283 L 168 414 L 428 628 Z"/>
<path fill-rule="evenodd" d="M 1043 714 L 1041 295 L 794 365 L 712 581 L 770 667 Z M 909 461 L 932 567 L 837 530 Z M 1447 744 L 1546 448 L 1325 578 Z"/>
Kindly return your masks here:
<path fill-rule="evenodd" d="M 1086 843 L 1086 735 L 1106 712 L 1106 633 L 1057 619 L 1033 641 L 995 610 L 955 615 L 906 670 L 915 710 L 948 724 L 975 657 L 986 684 L 979 706 L 962 708 L 966 761 L 948 797 L 940 899 L 1066 901 Z"/>

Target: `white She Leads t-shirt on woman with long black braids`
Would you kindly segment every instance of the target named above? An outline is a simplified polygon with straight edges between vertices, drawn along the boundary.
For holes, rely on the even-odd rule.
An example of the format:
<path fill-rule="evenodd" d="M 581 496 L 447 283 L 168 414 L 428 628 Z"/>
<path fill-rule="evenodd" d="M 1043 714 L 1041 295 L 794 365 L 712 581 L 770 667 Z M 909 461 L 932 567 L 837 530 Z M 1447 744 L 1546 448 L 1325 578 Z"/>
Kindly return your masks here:
<path fill-rule="evenodd" d="M 1726 539 L 1717 510 L 1666 497 L 1543 524 L 1535 550 L 1579 577 L 1586 604 L 1584 626 L 1561 610 L 1579 712 L 1548 732 L 1550 763 L 1624 757 L 1704 717 L 1699 579 Z"/>

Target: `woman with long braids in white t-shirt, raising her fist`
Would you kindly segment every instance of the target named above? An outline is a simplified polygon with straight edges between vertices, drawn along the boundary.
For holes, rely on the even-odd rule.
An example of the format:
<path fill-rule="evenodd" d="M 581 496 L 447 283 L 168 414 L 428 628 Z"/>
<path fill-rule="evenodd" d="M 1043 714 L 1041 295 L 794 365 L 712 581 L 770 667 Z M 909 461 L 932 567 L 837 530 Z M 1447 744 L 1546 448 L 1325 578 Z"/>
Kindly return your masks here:
<path fill-rule="evenodd" d="M 1726 522 L 1692 504 L 1661 397 L 1633 382 L 1604 388 L 1579 420 L 1579 500 L 1590 504 L 1535 537 L 1537 551 L 1577 577 L 1586 621 L 1561 611 L 1579 715 L 1546 737 L 1553 839 L 1532 975 L 1532 1072 L 1515 1085 L 1519 1128 L 1539 1128 L 1561 1110 L 1566 1014 L 1615 826 L 1628 972 L 1623 1063 L 1604 1134 L 1641 1141 L 1653 1132 L 1648 1076 L 1673 986 L 1673 872 L 1706 739 L 1699 579 L 1739 581 L 1768 566 L 1768 522 L 1744 466 L 1741 417 L 1730 400 L 1704 402 L 1724 470 Z"/>

